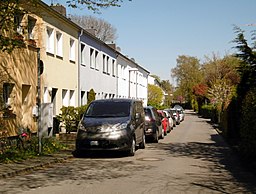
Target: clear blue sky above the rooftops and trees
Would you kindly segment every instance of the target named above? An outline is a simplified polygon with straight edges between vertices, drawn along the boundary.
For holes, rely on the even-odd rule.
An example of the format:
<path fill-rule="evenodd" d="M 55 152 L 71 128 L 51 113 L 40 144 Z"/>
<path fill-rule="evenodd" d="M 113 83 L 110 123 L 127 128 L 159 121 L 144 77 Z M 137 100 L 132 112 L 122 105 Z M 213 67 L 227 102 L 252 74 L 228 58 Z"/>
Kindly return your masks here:
<path fill-rule="evenodd" d="M 43 1 L 66 5 L 66 0 Z M 203 61 L 213 53 L 234 53 L 233 25 L 248 32 L 256 29 L 246 26 L 256 24 L 256 0 L 124 0 L 121 7 L 101 12 L 67 8 L 68 14 L 93 15 L 112 24 L 121 52 L 171 83 L 179 55 Z"/>

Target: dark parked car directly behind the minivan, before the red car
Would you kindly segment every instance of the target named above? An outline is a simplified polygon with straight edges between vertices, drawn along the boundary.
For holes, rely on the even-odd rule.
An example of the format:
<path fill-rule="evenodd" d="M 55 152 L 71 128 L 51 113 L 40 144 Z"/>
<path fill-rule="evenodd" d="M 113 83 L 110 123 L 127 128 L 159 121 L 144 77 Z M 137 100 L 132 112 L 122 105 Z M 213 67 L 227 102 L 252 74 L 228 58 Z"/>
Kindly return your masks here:
<path fill-rule="evenodd" d="M 147 106 L 144 108 L 144 111 L 146 138 L 153 139 L 154 142 L 158 142 L 159 138 L 164 138 L 164 132 L 157 109 L 152 106 Z"/>

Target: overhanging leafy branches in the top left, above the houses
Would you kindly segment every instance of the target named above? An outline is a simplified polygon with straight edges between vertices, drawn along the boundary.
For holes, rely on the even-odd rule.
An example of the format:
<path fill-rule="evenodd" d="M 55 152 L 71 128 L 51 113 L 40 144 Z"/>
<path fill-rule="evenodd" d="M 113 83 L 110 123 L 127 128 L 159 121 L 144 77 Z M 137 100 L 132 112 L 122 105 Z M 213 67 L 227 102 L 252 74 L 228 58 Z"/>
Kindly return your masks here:
<path fill-rule="evenodd" d="M 131 0 L 129 0 L 131 1 Z M 28 10 L 39 12 L 37 5 L 41 0 L 1 0 L 0 3 L 0 51 L 12 52 L 15 48 L 23 47 L 24 39 L 19 30 L 26 30 L 27 23 L 20 25 L 22 17 Z M 67 0 L 72 8 L 86 8 L 99 12 L 102 8 L 120 7 L 123 0 Z"/>

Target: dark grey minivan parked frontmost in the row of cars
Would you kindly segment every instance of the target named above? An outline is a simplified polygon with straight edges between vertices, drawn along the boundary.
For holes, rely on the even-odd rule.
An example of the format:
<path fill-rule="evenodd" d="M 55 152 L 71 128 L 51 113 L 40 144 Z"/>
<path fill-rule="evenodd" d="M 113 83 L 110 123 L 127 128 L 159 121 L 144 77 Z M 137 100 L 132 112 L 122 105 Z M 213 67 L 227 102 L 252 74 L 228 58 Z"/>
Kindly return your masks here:
<path fill-rule="evenodd" d="M 76 153 L 96 150 L 124 151 L 133 156 L 145 148 L 145 113 L 133 99 L 92 101 L 77 130 Z"/>

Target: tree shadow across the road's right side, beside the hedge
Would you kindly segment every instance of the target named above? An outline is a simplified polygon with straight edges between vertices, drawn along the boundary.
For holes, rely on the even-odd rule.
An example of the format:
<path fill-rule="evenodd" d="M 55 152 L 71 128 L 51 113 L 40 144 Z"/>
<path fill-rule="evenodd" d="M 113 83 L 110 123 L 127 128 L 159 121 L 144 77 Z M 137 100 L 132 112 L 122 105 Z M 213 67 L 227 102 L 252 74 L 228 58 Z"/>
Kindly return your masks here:
<path fill-rule="evenodd" d="M 207 187 L 221 193 L 229 193 L 227 192 L 227 185 L 234 183 L 233 189 L 237 188 L 238 193 L 242 192 L 239 190 L 242 187 L 256 193 L 255 175 L 241 165 L 236 154 L 221 140 L 218 134 L 212 135 L 211 139 L 214 143 L 158 143 L 152 144 L 150 149 L 164 150 L 164 154 L 170 157 L 189 157 L 210 162 L 210 166 L 200 166 L 200 168 L 210 170 L 210 173 L 209 177 L 204 179 L 202 183 L 196 183 L 197 186 Z M 231 176 L 225 176 L 226 173 L 222 173 L 224 171 L 228 171 Z"/>

